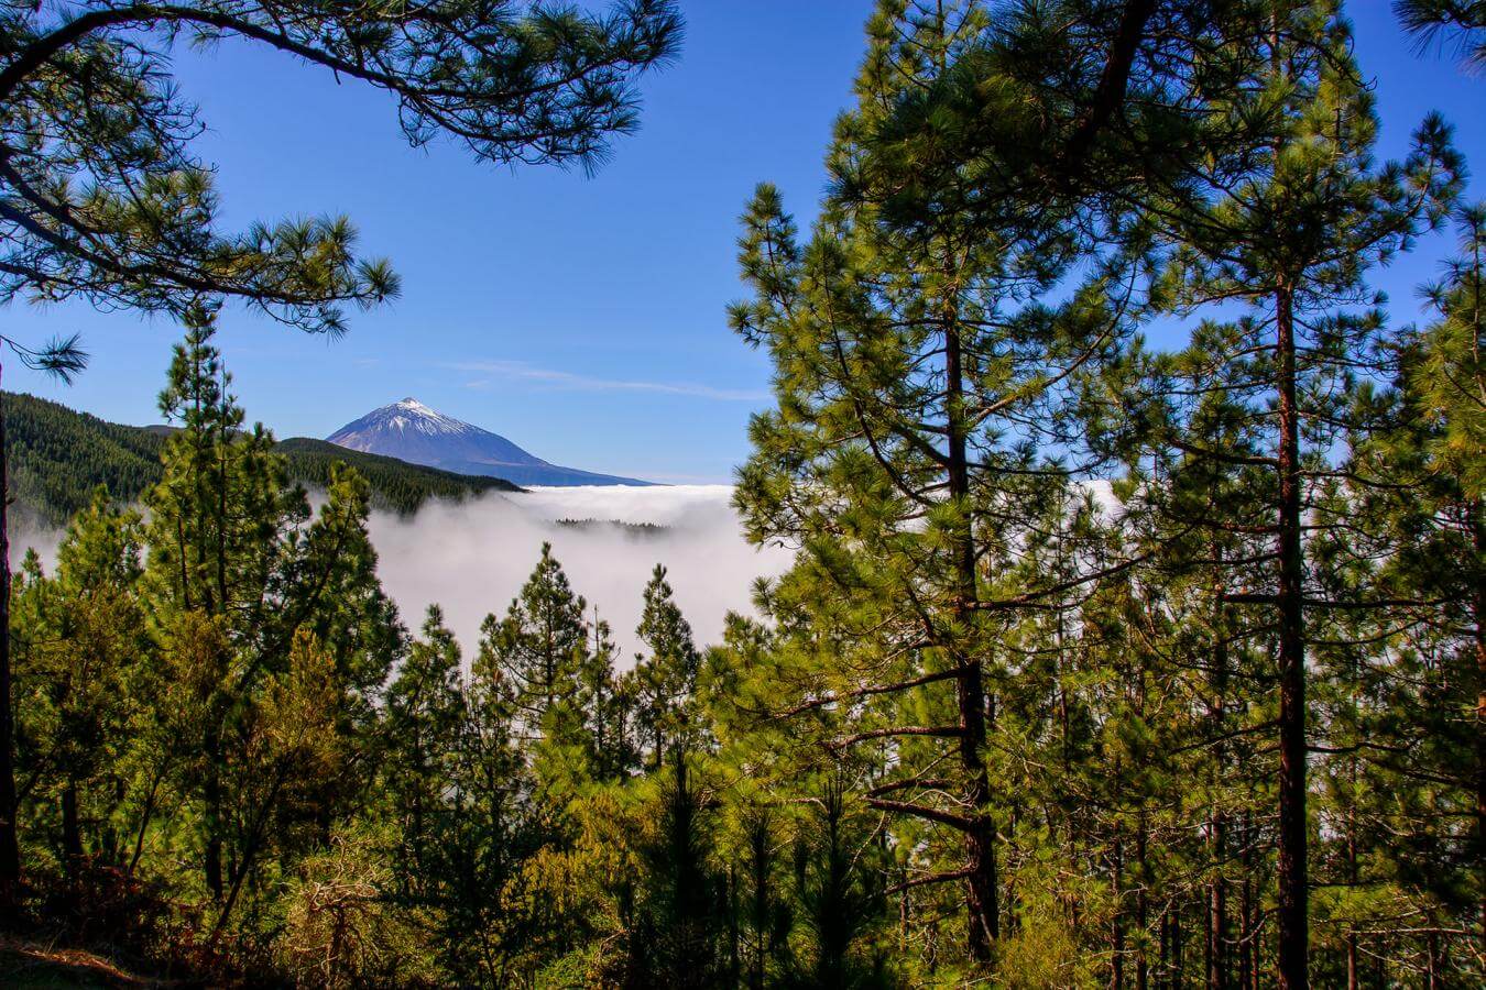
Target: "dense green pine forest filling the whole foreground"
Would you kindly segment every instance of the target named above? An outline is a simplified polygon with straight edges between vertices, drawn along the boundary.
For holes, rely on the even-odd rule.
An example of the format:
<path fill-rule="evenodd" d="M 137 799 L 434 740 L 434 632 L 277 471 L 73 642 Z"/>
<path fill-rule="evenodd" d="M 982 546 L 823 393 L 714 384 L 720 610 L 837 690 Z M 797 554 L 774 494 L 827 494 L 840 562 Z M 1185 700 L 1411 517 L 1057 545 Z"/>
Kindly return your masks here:
<path fill-rule="evenodd" d="M 1480 61 L 1480 4 L 1398 6 Z M 626 129 L 679 31 L 201 9 L 536 165 Z M 6 16 L 0 96 L 55 71 L 83 126 Z M 881 0 L 866 40 L 808 230 L 768 184 L 740 220 L 774 402 L 736 506 L 796 558 L 716 644 L 657 566 L 618 656 L 548 546 L 490 548 L 533 570 L 468 652 L 397 614 L 366 478 L 312 512 L 212 343 L 217 297 L 325 330 L 394 292 L 333 227 L 166 269 L 196 242 L 25 227 L 3 278 L 186 335 L 143 512 L 98 493 L 10 583 L 16 931 L 207 983 L 1480 986 L 1486 208 L 1449 122 L 1376 159 L 1336 0 Z M 1372 279 L 1424 237 L 1415 324 Z"/>

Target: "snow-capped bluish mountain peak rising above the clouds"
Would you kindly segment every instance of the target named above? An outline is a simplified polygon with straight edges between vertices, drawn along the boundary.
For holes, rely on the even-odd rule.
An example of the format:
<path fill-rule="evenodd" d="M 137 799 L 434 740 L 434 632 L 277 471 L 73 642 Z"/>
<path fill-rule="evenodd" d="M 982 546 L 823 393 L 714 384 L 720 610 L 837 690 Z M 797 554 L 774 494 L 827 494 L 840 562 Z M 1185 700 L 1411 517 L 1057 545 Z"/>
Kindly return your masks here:
<path fill-rule="evenodd" d="M 462 475 L 493 475 L 520 485 L 651 484 L 548 463 L 499 433 L 444 416 L 418 399 L 403 399 L 373 410 L 342 426 L 327 441 Z"/>

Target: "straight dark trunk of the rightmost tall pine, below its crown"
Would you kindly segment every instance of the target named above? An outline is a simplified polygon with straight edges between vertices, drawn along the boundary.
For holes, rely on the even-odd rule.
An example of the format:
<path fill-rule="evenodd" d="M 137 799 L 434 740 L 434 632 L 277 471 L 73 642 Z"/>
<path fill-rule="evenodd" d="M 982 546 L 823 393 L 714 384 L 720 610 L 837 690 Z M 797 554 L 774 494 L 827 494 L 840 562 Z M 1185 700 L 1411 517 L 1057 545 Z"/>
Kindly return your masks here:
<path fill-rule="evenodd" d="M 1300 545 L 1300 413 L 1296 402 L 1293 295 L 1275 292 L 1275 364 L 1279 398 L 1279 898 L 1281 990 L 1306 990 L 1309 919 L 1306 883 L 1306 698 L 1303 549 Z"/>

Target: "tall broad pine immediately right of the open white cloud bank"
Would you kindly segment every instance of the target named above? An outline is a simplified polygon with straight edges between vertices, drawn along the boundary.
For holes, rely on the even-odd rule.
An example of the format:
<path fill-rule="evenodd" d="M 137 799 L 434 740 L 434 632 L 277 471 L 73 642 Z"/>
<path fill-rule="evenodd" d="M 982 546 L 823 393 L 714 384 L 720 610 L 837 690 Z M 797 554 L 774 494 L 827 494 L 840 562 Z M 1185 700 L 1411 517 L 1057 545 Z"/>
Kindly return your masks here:
<path fill-rule="evenodd" d="M 979 4 L 883 4 L 869 33 L 859 105 L 829 156 L 840 191 L 808 245 L 771 187 L 743 218 L 755 295 L 731 321 L 768 347 L 779 408 L 750 426 L 737 502 L 752 539 L 804 551 L 771 592 L 773 617 L 799 622 L 786 637 L 798 669 L 779 684 L 798 693 L 776 695 L 777 707 L 840 709 L 829 745 L 898 754 L 866 801 L 918 819 L 918 842 L 921 828 L 958 837 L 957 855 L 942 839 L 929 846 L 915 883 L 964 882 L 966 941 L 985 963 L 1002 907 L 982 750 L 991 684 L 1010 669 L 994 643 L 1003 619 L 1058 609 L 1098 576 L 1085 566 L 1043 580 L 1022 566 L 1019 534 L 1070 524 L 1060 491 L 1088 469 L 1073 432 L 1077 383 L 1125 332 L 1123 260 L 1080 272 L 1065 301 L 1048 304 L 1039 297 L 1074 278 L 1071 212 L 1008 196 L 991 217 L 972 196 L 990 162 L 935 171 L 942 186 L 921 187 L 909 178 L 918 145 L 906 144 L 917 135 L 884 147 L 884 134 L 899 135 L 893 108 L 948 86 L 951 67 L 979 50 Z M 935 153 L 932 134 L 921 141 Z M 903 197 L 877 199 L 899 184 Z M 1070 453 L 1045 453 L 1060 445 Z"/>

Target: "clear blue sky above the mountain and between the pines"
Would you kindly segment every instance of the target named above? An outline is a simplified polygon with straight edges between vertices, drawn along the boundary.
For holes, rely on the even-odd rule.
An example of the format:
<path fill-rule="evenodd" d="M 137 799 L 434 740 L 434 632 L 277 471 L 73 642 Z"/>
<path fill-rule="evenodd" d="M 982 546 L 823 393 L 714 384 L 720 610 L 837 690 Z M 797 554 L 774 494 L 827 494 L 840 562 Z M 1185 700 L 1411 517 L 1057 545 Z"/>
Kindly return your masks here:
<path fill-rule="evenodd" d="M 1351 4 L 1358 56 L 1378 80 L 1380 154 L 1400 154 L 1430 110 L 1486 162 L 1486 79 L 1418 56 L 1386 0 Z M 279 436 L 325 436 L 412 395 L 548 460 L 658 481 L 728 481 L 746 424 L 768 404 L 767 361 L 727 328 L 742 294 L 737 215 L 779 184 L 799 217 L 825 183 L 834 116 L 850 98 L 869 0 L 682 1 L 679 62 L 643 82 L 639 134 L 596 177 L 477 165 L 459 148 L 409 148 L 380 92 L 241 43 L 181 50 L 184 94 L 210 125 L 224 220 L 348 214 L 386 255 L 403 297 L 354 315 L 340 340 L 227 310 L 218 340 L 250 419 Z M 1486 168 L 1477 165 L 1477 168 Z M 1486 196 L 1473 181 L 1470 194 Z M 1380 273 L 1400 318 L 1434 278 L 1447 237 Z M 83 306 L 15 304 L 7 334 L 83 334 L 94 364 L 62 387 L 7 362 L 7 389 L 123 423 L 159 420 L 155 396 L 177 328 Z"/>

